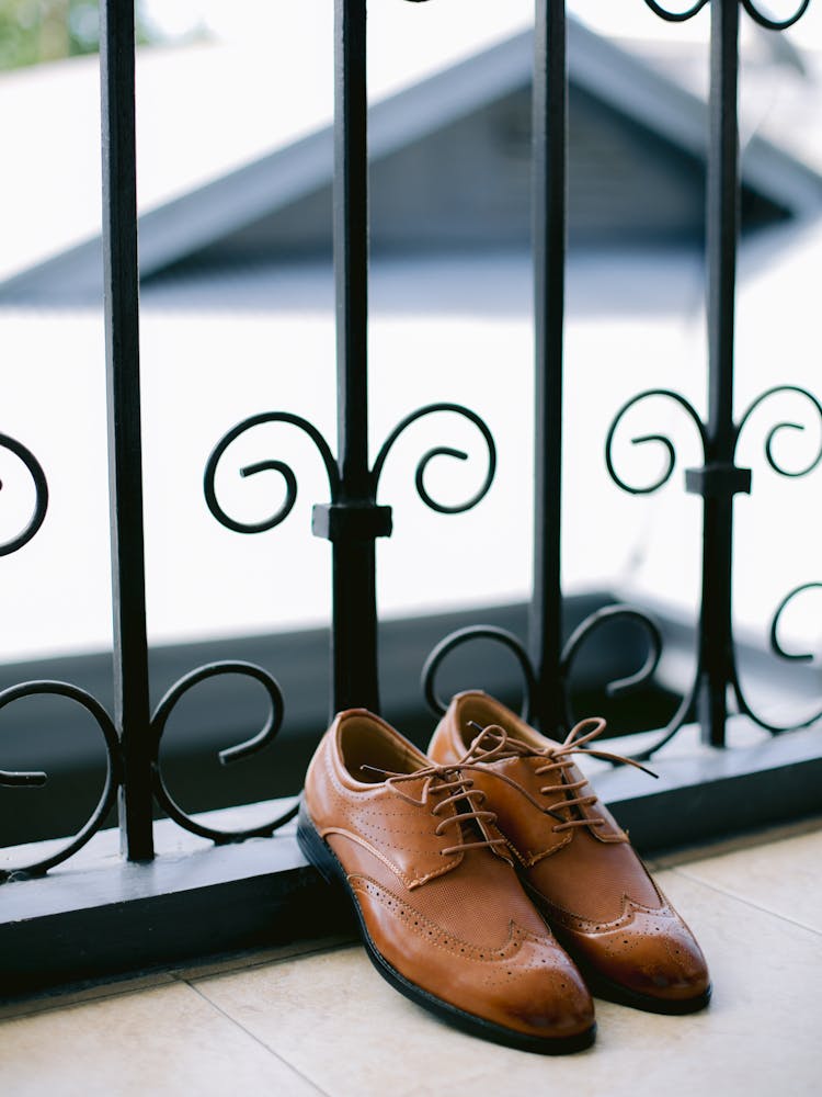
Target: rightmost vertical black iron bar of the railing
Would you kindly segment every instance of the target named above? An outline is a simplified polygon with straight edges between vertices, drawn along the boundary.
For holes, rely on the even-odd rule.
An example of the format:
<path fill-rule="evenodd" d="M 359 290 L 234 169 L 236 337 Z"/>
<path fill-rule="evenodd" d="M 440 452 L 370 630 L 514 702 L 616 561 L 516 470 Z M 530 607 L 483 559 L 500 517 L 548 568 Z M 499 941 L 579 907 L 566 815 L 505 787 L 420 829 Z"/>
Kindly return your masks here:
<path fill-rule="evenodd" d="M 710 144 L 707 179 L 707 465 L 731 468 L 733 333 L 739 237 L 739 2 L 711 0 Z M 733 493 L 704 497 L 703 591 L 697 714 L 703 737 L 724 743 L 727 690 L 735 679 L 731 621 Z"/>

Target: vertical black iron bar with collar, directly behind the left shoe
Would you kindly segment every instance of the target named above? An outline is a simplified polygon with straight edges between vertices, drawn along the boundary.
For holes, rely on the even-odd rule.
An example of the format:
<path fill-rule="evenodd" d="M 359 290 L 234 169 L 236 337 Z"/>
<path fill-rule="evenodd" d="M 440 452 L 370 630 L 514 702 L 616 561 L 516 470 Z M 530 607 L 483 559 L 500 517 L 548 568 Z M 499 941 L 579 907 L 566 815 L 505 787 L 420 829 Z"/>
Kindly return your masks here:
<path fill-rule="evenodd" d="M 340 501 L 374 504 L 368 471 L 368 134 L 365 0 L 334 3 L 334 276 Z M 379 708 L 373 538 L 333 542 L 332 709 Z"/>

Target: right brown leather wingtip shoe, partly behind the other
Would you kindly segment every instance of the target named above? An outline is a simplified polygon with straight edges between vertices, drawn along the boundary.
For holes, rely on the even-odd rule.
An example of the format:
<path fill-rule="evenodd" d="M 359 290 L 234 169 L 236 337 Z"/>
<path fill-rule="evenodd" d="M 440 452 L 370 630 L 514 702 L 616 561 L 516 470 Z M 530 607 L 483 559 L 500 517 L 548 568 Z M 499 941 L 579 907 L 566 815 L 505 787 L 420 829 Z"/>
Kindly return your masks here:
<path fill-rule="evenodd" d="M 604 720 L 585 720 L 555 743 L 471 691 L 454 698 L 429 753 L 443 766 L 469 766 L 526 891 L 595 994 L 690 1013 L 710 997 L 699 946 L 570 758 L 614 759 L 584 746 L 604 727 Z"/>

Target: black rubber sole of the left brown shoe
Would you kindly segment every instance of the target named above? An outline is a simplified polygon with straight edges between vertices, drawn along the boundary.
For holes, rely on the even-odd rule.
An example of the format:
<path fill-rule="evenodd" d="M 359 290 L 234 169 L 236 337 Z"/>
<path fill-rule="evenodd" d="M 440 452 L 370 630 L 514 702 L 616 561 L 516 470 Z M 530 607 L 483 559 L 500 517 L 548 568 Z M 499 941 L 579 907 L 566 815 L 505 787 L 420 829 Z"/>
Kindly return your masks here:
<path fill-rule="evenodd" d="M 390 983 L 400 994 L 410 998 L 411 1002 L 414 1002 L 418 1006 L 422 1006 L 423 1009 L 427 1009 L 435 1017 L 447 1021 L 469 1036 L 490 1040 L 492 1043 L 500 1043 L 506 1048 L 515 1048 L 517 1051 L 530 1051 L 540 1055 L 567 1055 L 576 1051 L 584 1051 L 594 1042 L 596 1034 L 595 1025 L 585 1032 L 561 1039 L 528 1036 L 525 1032 L 516 1032 L 513 1029 L 503 1028 L 501 1025 L 494 1025 L 492 1021 L 487 1021 L 475 1014 L 458 1009 L 456 1006 L 452 1006 L 442 998 L 437 998 L 427 991 L 424 991 L 421 986 L 416 986 L 415 983 L 406 979 L 404 975 L 400 974 L 385 959 L 372 940 L 362 911 L 359 909 L 359 904 L 349 885 L 345 869 L 336 859 L 334 851 L 317 833 L 302 802 L 300 802 L 299 815 L 297 817 L 297 841 L 306 859 L 313 864 L 323 880 L 335 887 L 342 887 L 347 894 L 359 923 L 359 932 L 368 959 L 383 979 L 387 983 Z"/>

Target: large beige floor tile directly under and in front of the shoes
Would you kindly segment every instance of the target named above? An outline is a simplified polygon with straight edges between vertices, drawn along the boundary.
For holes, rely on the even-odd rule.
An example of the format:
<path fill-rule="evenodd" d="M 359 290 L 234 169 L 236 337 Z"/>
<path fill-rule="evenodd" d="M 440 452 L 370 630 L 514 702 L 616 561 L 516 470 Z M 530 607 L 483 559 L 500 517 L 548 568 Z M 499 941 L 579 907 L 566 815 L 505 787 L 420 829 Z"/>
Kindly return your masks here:
<path fill-rule="evenodd" d="M 819 1093 L 822 950 L 810 931 L 682 875 L 662 886 L 699 936 L 715 1000 L 692 1017 L 602 1004 L 596 1045 L 546 1059 L 463 1036 L 393 992 L 358 948 L 196 985 L 334 1097 L 770 1097 Z"/>

